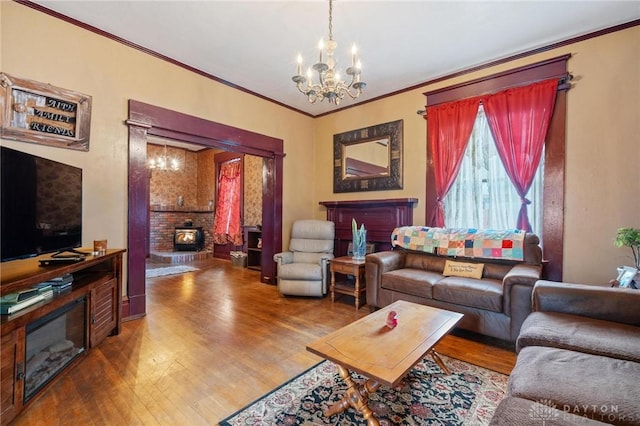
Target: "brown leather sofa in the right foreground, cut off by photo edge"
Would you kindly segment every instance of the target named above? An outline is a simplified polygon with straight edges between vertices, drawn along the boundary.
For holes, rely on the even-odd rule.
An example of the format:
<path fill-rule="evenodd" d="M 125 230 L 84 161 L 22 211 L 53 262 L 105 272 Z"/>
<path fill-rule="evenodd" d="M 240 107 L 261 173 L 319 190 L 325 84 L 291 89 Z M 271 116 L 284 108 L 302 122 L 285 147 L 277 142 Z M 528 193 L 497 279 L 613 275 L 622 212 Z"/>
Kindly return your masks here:
<path fill-rule="evenodd" d="M 502 425 L 640 425 L 640 291 L 539 281 Z"/>

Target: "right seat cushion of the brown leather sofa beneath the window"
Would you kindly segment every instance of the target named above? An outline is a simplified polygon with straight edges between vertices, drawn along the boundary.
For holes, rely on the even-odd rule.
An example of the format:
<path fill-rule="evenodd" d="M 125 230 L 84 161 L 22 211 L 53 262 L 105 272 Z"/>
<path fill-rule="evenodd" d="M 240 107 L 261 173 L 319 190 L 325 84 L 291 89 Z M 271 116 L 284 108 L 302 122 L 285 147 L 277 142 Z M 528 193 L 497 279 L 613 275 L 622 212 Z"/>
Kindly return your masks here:
<path fill-rule="evenodd" d="M 433 298 L 457 305 L 502 312 L 502 281 L 445 277 L 434 283 Z"/>

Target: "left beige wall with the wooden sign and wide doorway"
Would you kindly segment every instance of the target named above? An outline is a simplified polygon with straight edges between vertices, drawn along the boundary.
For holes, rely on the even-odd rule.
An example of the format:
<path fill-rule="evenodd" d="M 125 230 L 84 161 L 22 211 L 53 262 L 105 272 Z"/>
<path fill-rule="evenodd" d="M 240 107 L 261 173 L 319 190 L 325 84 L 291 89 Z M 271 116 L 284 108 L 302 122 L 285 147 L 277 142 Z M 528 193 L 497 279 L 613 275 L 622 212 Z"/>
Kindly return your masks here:
<path fill-rule="evenodd" d="M 313 119 L 14 2 L 0 2 L 0 19 L 1 71 L 93 98 L 89 152 L 2 140 L 82 167 L 84 245 L 126 247 L 129 99 L 282 139 L 283 226 L 313 214 L 313 182 L 300 179 L 315 167 Z"/>

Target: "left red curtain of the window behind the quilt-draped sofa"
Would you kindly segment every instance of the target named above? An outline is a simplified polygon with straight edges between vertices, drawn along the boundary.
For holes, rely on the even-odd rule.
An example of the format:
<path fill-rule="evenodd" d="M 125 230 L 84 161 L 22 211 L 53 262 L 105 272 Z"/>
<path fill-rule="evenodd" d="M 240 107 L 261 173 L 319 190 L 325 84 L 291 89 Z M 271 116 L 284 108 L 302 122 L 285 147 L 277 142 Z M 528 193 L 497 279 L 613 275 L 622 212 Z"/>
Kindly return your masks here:
<path fill-rule="evenodd" d="M 427 107 L 427 130 L 436 185 L 436 208 L 428 226 L 444 227 L 442 200 L 458 175 L 473 123 L 478 115 L 479 98 Z"/>

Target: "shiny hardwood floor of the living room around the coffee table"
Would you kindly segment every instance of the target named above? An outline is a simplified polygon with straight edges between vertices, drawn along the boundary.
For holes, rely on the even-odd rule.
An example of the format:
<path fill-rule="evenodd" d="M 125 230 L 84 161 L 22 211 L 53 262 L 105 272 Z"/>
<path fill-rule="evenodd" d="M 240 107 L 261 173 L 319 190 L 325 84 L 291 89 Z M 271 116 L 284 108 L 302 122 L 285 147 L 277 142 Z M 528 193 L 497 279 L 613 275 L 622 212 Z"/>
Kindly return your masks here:
<path fill-rule="evenodd" d="M 211 425 L 321 359 L 305 345 L 369 313 L 342 296 L 283 297 L 224 260 L 147 280 L 147 316 L 123 323 L 15 425 Z M 436 349 L 508 374 L 515 354 L 450 335 Z"/>

